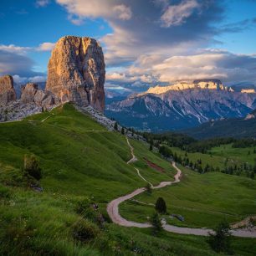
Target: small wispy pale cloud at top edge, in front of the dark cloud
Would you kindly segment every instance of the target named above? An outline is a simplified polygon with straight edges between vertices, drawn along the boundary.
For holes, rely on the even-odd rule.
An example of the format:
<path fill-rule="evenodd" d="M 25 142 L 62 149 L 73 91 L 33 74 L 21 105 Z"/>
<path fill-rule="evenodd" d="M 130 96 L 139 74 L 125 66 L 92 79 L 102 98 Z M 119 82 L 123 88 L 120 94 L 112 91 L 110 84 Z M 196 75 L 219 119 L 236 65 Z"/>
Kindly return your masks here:
<path fill-rule="evenodd" d="M 196 0 L 186 0 L 180 4 L 168 6 L 165 13 L 161 15 L 162 26 L 168 28 L 185 23 L 186 19 L 199 7 Z"/>

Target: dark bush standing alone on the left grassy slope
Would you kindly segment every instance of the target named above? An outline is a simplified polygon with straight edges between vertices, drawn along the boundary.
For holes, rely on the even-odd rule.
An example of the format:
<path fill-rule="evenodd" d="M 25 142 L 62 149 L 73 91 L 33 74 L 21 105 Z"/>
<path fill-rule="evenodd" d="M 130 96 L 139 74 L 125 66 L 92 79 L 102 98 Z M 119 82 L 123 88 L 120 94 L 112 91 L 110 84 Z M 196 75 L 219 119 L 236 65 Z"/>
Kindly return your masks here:
<path fill-rule="evenodd" d="M 35 156 L 24 156 L 24 175 L 40 180 L 42 178 L 42 169 L 39 166 L 39 162 Z"/>

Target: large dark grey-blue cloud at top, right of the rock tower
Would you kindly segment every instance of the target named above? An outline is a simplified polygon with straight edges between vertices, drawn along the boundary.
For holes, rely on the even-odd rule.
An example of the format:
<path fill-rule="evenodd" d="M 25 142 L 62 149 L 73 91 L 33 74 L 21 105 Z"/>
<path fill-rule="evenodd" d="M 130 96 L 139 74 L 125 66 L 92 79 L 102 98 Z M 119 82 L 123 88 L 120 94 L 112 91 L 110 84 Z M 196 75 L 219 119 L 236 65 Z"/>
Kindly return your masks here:
<path fill-rule="evenodd" d="M 100 17 L 110 23 L 113 33 L 101 39 L 109 66 L 130 64 L 141 54 L 171 55 L 199 45 L 205 47 L 218 33 L 214 25 L 224 13 L 223 2 L 213 0 L 57 2 L 79 19 Z"/>

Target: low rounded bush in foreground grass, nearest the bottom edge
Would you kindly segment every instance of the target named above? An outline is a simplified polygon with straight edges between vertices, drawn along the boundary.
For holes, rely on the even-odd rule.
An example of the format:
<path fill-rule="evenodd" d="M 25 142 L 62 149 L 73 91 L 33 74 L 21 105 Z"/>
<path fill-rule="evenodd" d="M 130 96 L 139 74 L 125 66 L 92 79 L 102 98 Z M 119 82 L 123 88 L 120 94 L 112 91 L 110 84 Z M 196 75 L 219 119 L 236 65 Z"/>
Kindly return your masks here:
<path fill-rule="evenodd" d="M 74 239 L 79 241 L 88 241 L 95 238 L 100 233 L 100 229 L 84 218 L 79 220 L 72 226 L 72 234 Z"/>

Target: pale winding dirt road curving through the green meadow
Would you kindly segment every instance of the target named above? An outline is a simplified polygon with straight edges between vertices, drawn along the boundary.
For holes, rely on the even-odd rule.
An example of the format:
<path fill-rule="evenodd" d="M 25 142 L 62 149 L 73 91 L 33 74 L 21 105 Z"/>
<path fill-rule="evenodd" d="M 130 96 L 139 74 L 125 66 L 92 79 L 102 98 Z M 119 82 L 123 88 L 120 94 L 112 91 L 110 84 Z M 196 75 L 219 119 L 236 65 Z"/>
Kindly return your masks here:
<path fill-rule="evenodd" d="M 130 149 L 131 149 L 132 157 L 131 157 L 130 161 L 127 161 L 127 164 L 130 164 L 131 162 L 137 161 L 137 158 L 134 154 L 134 149 L 131 146 L 127 137 L 126 137 L 126 140 L 127 140 L 128 146 L 130 146 Z M 159 185 L 157 185 L 155 187 L 149 182 L 151 184 L 152 189 L 166 187 L 166 186 L 170 186 L 174 183 L 180 182 L 180 177 L 182 175 L 182 171 L 176 166 L 176 163 L 174 161 L 172 161 L 172 166 L 177 170 L 177 174 L 174 176 L 174 181 L 173 182 L 161 182 Z M 146 179 L 141 176 L 140 171 L 137 168 L 135 168 L 135 169 L 136 169 L 139 177 L 141 177 L 144 181 L 146 181 Z M 115 200 L 111 201 L 107 206 L 107 212 L 109 213 L 109 216 L 110 216 L 112 222 L 116 223 L 120 226 L 125 226 L 125 227 L 150 228 L 151 223 L 131 222 L 129 220 L 126 220 L 125 218 L 122 218 L 119 213 L 119 205 L 121 202 L 125 202 L 126 200 L 129 200 L 132 197 L 136 197 L 137 195 L 139 195 L 145 191 L 146 191 L 146 188 L 141 187 L 141 188 L 136 189 L 134 192 L 131 192 L 130 194 L 127 194 L 123 197 L 118 197 Z M 162 227 L 167 232 L 181 233 L 181 234 L 192 234 L 192 235 L 197 235 L 197 236 L 208 236 L 209 233 L 213 233 L 212 229 L 208 229 L 208 228 L 182 228 L 182 227 L 169 225 L 166 223 L 162 223 Z M 236 236 L 236 237 L 256 238 L 256 232 L 250 231 L 248 229 L 235 229 L 235 230 L 231 230 L 231 233 L 233 236 Z"/>

